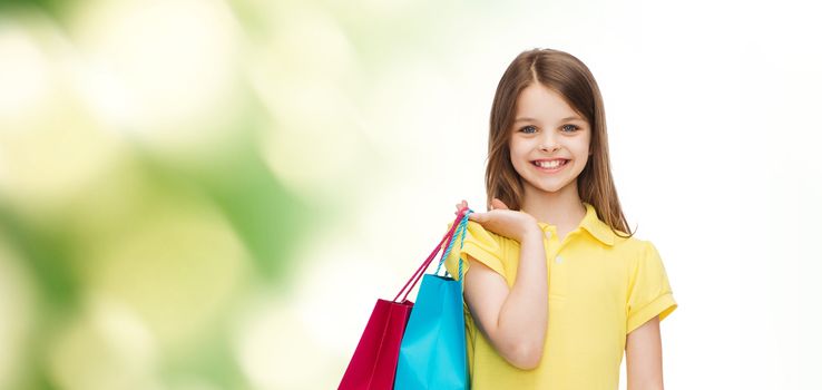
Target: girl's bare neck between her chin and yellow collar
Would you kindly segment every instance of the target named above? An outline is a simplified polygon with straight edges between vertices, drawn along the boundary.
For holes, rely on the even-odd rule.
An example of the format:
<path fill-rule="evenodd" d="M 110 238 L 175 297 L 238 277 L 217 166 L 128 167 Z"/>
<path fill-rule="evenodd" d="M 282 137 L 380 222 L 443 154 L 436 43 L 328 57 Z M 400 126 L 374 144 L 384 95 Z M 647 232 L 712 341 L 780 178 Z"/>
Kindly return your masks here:
<path fill-rule="evenodd" d="M 526 186 L 521 209 L 537 221 L 555 226 L 576 226 L 586 213 L 576 182 L 556 193 Z"/>

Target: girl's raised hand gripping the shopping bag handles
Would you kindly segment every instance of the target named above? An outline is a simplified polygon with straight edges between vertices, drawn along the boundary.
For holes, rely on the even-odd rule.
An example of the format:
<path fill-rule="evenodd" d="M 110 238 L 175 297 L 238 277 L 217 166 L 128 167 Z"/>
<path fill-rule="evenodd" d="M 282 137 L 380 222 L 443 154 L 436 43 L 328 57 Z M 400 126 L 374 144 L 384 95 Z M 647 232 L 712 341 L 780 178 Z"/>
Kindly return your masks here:
<path fill-rule="evenodd" d="M 468 202 L 462 201 L 457 204 L 457 213 L 460 208 L 468 207 Z M 540 234 L 539 225 L 537 225 L 537 218 L 526 212 L 512 211 L 498 198 L 491 201 L 491 205 L 488 212 L 477 213 L 473 212 L 468 216 L 469 221 L 473 221 L 482 225 L 488 231 L 491 231 L 498 235 L 522 242 L 526 236 L 534 234 Z"/>

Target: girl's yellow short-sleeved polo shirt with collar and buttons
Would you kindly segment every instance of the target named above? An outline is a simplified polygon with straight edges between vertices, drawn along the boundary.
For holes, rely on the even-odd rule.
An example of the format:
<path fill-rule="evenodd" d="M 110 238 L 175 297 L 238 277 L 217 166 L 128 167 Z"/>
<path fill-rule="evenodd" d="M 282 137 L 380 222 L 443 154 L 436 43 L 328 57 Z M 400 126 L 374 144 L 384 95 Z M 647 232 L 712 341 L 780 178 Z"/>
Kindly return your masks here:
<path fill-rule="evenodd" d="M 677 308 L 654 244 L 617 236 L 597 217 L 593 205 L 584 204 L 585 217 L 561 243 L 556 226 L 539 223 L 546 233 L 548 269 L 548 329 L 539 367 L 520 370 L 509 364 L 479 331 L 463 303 L 472 390 L 615 390 L 626 335 L 656 315 L 665 319 Z M 458 253 L 463 260 L 470 254 L 513 286 L 519 264 L 517 241 L 469 221 L 462 250 L 457 237 L 446 260 L 454 279 Z M 462 272 L 470 272 L 468 262 L 463 261 Z"/>

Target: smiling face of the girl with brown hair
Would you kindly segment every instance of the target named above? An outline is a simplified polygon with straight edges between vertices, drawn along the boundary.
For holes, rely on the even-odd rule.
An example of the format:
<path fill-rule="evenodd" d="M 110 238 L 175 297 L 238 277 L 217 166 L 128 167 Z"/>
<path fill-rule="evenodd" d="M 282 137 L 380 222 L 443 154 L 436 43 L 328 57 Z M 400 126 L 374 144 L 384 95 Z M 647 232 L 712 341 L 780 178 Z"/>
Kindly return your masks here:
<path fill-rule="evenodd" d="M 534 189 L 576 192 L 577 176 L 591 154 L 590 133 L 588 121 L 559 94 L 538 82 L 526 87 L 517 97 L 509 145 L 511 164 L 523 179 L 526 195 Z"/>

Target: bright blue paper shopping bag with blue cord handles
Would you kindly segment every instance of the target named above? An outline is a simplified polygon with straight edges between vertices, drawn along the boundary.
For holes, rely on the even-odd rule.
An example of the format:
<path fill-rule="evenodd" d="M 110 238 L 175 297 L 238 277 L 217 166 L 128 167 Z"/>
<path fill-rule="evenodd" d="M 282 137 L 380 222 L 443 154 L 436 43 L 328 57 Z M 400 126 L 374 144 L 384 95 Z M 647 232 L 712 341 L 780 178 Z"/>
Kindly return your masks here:
<path fill-rule="evenodd" d="M 452 240 L 442 253 L 433 274 L 425 274 L 411 309 L 397 363 L 394 389 L 434 390 L 469 389 L 466 354 L 466 319 L 462 313 L 462 259 L 459 280 L 448 272 L 439 275 L 442 263 L 460 235 L 460 248 L 468 226 L 467 211 Z"/>

